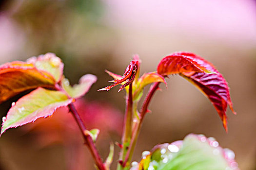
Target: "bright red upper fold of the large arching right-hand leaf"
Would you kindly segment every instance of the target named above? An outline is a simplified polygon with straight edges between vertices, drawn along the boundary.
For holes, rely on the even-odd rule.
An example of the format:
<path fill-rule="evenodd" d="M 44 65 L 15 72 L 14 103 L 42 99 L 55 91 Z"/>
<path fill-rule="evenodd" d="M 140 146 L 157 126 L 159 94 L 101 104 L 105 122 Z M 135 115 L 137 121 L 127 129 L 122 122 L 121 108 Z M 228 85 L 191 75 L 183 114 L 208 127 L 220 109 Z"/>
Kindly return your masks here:
<path fill-rule="evenodd" d="M 183 72 L 213 73 L 213 65 L 196 54 L 190 52 L 175 52 L 164 57 L 158 65 L 158 74 L 167 76 Z"/>

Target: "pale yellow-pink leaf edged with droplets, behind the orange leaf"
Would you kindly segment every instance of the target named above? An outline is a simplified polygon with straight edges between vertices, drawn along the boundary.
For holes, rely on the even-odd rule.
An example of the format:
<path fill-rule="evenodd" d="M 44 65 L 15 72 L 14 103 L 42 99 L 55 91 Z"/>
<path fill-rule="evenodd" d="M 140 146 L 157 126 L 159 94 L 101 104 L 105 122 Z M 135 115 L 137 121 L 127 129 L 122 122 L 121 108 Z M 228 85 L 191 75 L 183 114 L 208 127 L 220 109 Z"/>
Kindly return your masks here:
<path fill-rule="evenodd" d="M 62 78 L 64 64 L 54 53 L 46 53 L 44 55 L 39 55 L 38 57 L 31 57 L 27 62 L 34 64 L 40 71 L 47 72 L 47 76 L 50 74 L 54 77 L 56 82 L 59 82 Z"/>

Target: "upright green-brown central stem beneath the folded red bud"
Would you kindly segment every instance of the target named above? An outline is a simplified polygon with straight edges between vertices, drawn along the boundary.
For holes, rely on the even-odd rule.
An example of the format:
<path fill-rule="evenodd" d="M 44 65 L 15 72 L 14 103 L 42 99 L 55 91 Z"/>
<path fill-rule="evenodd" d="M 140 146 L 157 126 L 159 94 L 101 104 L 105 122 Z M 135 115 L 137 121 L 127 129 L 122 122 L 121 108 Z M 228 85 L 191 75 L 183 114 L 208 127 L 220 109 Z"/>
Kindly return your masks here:
<path fill-rule="evenodd" d="M 128 147 L 130 145 L 131 137 L 132 137 L 132 122 L 133 122 L 133 85 L 132 83 L 129 85 L 128 97 L 126 99 L 126 109 L 124 114 L 124 124 L 123 124 L 123 135 L 122 135 L 122 150 L 120 153 L 119 160 L 124 161 L 126 152 L 128 151 Z M 125 164 L 118 164 L 118 170 L 122 169 Z"/>

